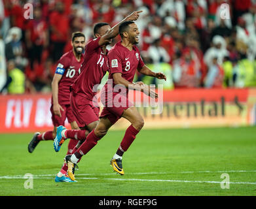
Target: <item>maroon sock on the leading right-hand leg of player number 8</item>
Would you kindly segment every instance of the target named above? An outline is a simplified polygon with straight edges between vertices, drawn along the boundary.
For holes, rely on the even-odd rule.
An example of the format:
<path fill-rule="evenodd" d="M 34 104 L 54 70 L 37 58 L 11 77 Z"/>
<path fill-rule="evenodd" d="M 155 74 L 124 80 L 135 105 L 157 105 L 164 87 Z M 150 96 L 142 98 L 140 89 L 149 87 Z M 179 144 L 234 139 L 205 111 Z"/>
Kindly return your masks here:
<path fill-rule="evenodd" d="M 134 142 L 134 139 L 136 138 L 137 133 L 139 133 L 139 131 L 137 131 L 137 129 L 134 128 L 132 125 L 130 125 L 128 129 L 126 129 L 124 138 L 122 138 L 120 147 L 117 150 L 117 155 L 122 156 L 123 153 L 128 150 L 132 142 Z"/>

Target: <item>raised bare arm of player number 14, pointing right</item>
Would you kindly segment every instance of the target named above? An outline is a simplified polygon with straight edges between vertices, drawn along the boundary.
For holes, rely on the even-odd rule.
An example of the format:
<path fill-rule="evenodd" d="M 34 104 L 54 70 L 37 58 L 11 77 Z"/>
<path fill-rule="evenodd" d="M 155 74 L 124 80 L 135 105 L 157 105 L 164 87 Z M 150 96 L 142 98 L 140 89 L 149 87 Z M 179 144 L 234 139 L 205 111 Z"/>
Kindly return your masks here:
<path fill-rule="evenodd" d="M 122 22 L 137 20 L 137 18 L 139 18 L 139 13 L 141 13 L 141 12 L 143 12 L 143 11 L 142 10 L 134 11 L 134 12 L 132 12 L 132 14 L 126 16 L 126 18 L 124 18 L 124 20 L 122 20 L 121 22 L 119 22 L 119 24 L 112 27 L 105 35 L 103 35 L 100 38 L 99 45 L 101 46 L 101 45 L 107 44 L 107 42 L 109 42 L 109 40 L 115 38 L 119 34 L 119 25 L 122 24 Z"/>

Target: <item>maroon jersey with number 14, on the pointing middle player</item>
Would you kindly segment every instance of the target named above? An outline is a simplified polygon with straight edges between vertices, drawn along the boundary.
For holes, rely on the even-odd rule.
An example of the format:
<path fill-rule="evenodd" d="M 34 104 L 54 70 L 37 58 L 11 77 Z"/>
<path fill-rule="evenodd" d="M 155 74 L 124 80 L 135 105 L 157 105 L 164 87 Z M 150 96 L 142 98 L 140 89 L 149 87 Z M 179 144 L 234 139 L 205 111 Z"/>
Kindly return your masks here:
<path fill-rule="evenodd" d="M 81 74 L 71 86 L 73 93 L 81 95 L 90 101 L 97 93 L 96 84 L 101 83 L 101 79 L 109 70 L 109 61 L 107 55 L 103 53 L 101 46 L 99 46 L 99 40 L 100 37 L 86 44 Z"/>

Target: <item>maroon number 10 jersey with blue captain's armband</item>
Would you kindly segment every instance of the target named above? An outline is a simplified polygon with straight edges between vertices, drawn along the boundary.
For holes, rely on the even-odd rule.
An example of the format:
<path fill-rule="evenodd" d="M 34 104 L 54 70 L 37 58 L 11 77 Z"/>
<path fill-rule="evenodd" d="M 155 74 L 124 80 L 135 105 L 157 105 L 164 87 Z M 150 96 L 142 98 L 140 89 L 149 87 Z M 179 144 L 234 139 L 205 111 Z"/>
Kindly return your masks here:
<path fill-rule="evenodd" d="M 75 82 L 75 79 L 79 76 L 80 67 L 84 61 L 84 55 L 81 55 L 80 62 L 77 61 L 73 50 L 65 53 L 60 60 L 56 68 L 56 74 L 62 74 L 62 78 L 58 84 L 58 102 L 60 105 L 69 105 L 70 86 Z"/>

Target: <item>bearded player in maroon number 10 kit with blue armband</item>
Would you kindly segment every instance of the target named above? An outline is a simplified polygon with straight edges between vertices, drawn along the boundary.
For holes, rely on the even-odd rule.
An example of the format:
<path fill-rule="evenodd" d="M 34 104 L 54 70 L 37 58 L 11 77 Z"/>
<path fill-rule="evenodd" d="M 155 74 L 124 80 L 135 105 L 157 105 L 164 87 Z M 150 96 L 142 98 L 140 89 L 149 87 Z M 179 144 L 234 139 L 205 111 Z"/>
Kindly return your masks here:
<path fill-rule="evenodd" d="M 46 131 L 42 134 L 35 133 L 28 144 L 28 151 L 30 153 L 35 150 L 37 144 L 42 140 L 54 140 L 57 127 L 64 125 L 66 118 L 71 124 L 72 129 L 79 129 L 79 125 L 77 125 L 70 106 L 69 86 L 79 76 L 80 67 L 84 61 L 82 54 L 85 48 L 84 34 L 80 32 L 73 33 L 71 45 L 73 49 L 60 58 L 54 78 L 52 79 L 52 105 L 50 111 L 52 113 L 54 129 L 53 131 Z M 77 140 L 70 140 L 67 153 L 71 153 L 76 144 Z"/>

